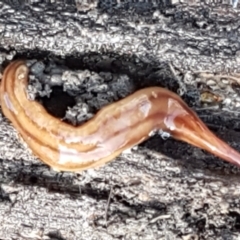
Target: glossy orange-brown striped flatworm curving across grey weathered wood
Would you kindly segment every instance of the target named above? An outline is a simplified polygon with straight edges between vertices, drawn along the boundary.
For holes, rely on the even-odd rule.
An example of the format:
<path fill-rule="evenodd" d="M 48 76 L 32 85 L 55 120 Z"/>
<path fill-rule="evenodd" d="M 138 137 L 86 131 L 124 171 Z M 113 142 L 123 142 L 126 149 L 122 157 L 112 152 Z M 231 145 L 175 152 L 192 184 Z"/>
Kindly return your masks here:
<path fill-rule="evenodd" d="M 56 170 L 78 172 L 101 166 L 156 130 L 240 166 L 240 154 L 217 138 L 178 95 L 167 89 L 139 90 L 105 106 L 87 123 L 72 126 L 28 99 L 28 71 L 24 61 L 14 61 L 5 69 L 1 108 L 33 153 Z"/>

